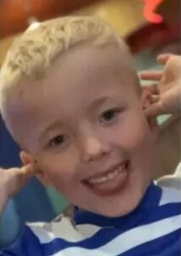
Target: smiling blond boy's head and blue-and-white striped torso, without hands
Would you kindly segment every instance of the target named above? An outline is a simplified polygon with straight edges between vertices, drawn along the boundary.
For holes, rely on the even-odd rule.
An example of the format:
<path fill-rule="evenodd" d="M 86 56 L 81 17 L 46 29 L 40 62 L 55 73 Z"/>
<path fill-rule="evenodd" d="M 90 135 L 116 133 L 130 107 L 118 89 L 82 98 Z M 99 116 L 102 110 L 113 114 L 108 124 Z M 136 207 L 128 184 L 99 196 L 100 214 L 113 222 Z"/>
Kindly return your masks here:
<path fill-rule="evenodd" d="M 180 195 L 151 182 L 158 127 L 127 46 L 95 17 L 48 20 L 1 73 L 8 130 L 74 222 L 31 224 L 2 255 L 179 255 Z M 35 172 L 35 171 L 34 171 Z"/>

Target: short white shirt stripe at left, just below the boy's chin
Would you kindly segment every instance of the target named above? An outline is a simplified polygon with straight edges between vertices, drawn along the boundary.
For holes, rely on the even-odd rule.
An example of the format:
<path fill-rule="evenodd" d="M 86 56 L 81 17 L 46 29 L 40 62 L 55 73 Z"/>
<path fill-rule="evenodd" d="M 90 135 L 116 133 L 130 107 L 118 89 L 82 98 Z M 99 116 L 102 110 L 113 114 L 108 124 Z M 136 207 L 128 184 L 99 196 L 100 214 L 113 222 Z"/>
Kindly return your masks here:
<path fill-rule="evenodd" d="M 94 236 L 101 227 L 92 224 L 74 226 L 70 218 L 61 218 L 60 222 L 29 224 L 30 229 L 37 236 L 40 243 L 48 243 L 56 238 L 77 242 Z"/>

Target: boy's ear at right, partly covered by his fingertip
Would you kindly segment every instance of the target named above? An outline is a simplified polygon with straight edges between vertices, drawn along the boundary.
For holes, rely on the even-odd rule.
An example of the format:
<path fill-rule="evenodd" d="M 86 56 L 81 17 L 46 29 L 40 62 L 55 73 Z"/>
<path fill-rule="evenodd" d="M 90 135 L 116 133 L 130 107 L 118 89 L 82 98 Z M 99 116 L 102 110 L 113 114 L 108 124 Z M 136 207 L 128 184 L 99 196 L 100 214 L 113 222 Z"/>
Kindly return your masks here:
<path fill-rule="evenodd" d="M 147 88 L 143 88 L 142 97 L 141 97 L 142 108 L 146 109 L 149 108 L 151 104 L 153 104 L 153 99 L 151 95 L 151 91 Z M 156 117 L 145 116 L 150 126 L 150 131 L 152 132 L 153 136 L 157 139 L 159 134 L 159 125 L 157 123 Z"/>

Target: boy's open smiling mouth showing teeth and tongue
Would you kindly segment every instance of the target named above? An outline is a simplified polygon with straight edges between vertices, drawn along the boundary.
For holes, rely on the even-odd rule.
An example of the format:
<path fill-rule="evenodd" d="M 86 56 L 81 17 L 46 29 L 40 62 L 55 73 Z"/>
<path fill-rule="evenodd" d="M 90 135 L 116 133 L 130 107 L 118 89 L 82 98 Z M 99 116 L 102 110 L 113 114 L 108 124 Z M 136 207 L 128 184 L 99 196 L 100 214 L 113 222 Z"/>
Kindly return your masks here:
<path fill-rule="evenodd" d="M 97 177 L 90 177 L 82 183 L 98 195 L 113 195 L 119 192 L 127 183 L 130 161 L 124 160 L 121 164 L 110 168 L 109 171 Z"/>

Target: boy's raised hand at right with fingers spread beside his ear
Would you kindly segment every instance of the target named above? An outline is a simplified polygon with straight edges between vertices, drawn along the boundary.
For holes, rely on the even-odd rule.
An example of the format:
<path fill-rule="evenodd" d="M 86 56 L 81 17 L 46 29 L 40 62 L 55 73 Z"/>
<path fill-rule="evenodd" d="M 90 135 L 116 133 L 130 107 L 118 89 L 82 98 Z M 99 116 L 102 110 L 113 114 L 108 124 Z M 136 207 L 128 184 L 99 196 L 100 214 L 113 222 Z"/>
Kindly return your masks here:
<path fill-rule="evenodd" d="M 141 79 L 158 82 L 148 87 L 152 102 L 145 113 L 155 117 L 162 113 L 180 113 L 181 56 L 159 55 L 157 61 L 165 65 L 162 72 L 144 71 L 140 75 Z"/>

